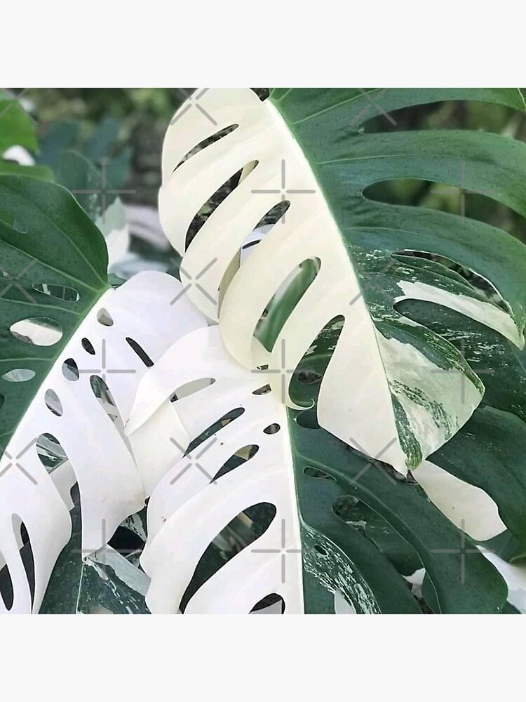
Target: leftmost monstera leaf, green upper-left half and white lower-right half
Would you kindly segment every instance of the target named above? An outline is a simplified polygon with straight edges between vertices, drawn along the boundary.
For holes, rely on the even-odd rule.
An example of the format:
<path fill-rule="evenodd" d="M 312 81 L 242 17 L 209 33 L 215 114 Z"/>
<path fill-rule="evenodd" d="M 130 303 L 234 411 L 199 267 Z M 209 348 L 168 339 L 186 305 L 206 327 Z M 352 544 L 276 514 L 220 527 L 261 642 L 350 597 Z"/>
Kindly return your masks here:
<path fill-rule="evenodd" d="M 170 305 L 180 284 L 164 274 L 110 288 L 104 237 L 58 185 L 0 177 L 0 258 L 0 613 L 27 614 L 69 542 L 72 490 L 81 564 L 172 465 L 151 427 L 125 441 L 122 418 L 147 367 L 204 322 Z"/>

